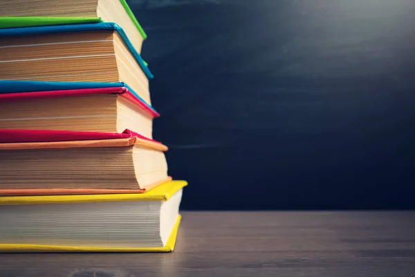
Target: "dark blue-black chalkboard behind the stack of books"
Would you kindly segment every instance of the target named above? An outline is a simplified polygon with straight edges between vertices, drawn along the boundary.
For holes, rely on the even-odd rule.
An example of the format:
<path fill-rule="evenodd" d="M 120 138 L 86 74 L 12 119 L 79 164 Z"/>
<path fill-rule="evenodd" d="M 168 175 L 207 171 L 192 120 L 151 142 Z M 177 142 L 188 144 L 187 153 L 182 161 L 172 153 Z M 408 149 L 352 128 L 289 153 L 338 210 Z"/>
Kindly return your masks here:
<path fill-rule="evenodd" d="M 415 1 L 128 2 L 183 209 L 415 208 Z"/>

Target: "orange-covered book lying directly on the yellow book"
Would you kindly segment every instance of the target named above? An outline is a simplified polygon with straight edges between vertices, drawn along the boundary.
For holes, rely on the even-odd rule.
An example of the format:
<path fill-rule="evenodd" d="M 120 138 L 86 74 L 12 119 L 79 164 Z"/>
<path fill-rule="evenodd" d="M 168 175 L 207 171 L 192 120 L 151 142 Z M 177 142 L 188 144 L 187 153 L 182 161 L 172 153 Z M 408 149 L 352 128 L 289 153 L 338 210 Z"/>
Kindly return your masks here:
<path fill-rule="evenodd" d="M 130 130 L 113 134 L 0 129 L 0 194 L 25 189 L 52 194 L 54 189 L 145 192 L 170 178 L 167 150 Z"/>

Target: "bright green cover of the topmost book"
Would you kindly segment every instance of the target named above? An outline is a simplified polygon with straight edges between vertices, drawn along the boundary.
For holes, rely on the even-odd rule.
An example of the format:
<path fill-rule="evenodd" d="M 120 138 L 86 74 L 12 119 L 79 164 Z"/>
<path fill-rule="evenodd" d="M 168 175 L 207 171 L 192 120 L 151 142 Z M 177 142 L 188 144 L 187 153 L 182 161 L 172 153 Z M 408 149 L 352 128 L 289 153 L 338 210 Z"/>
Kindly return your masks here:
<path fill-rule="evenodd" d="M 120 0 L 122 6 L 133 21 L 143 39 L 147 39 L 147 34 L 138 23 L 133 12 L 129 8 L 125 0 Z M 32 26 L 48 26 L 48 25 L 65 25 L 65 24 L 85 24 L 102 22 L 98 17 L 0 17 L 0 28 L 21 28 Z"/>

